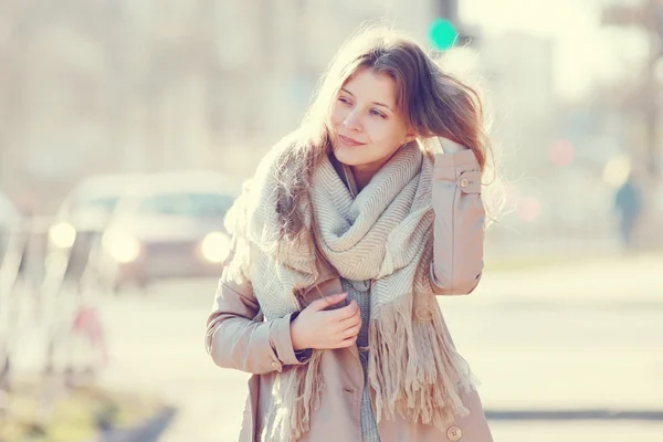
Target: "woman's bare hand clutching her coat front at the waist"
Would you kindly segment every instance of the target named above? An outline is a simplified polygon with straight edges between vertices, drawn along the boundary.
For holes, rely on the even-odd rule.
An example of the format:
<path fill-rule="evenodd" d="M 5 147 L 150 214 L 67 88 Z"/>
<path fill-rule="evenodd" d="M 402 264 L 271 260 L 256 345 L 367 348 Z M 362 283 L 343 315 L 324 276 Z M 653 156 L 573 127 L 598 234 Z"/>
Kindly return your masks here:
<path fill-rule="evenodd" d="M 347 348 L 355 345 L 361 328 L 361 314 L 357 302 L 352 301 L 341 308 L 325 311 L 346 297 L 347 293 L 326 296 L 314 301 L 299 313 L 291 323 L 295 351 L 307 348 Z"/>

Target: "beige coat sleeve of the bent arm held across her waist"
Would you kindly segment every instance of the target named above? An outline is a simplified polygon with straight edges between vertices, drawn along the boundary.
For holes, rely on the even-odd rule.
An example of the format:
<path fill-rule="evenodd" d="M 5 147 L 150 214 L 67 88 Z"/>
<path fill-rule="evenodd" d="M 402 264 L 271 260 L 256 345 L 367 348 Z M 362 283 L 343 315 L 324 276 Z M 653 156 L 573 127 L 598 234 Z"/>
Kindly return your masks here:
<path fill-rule="evenodd" d="M 311 352 L 293 349 L 290 324 L 295 315 L 262 320 L 251 282 L 230 277 L 225 267 L 207 319 L 207 351 L 219 367 L 254 375 L 306 364 Z"/>

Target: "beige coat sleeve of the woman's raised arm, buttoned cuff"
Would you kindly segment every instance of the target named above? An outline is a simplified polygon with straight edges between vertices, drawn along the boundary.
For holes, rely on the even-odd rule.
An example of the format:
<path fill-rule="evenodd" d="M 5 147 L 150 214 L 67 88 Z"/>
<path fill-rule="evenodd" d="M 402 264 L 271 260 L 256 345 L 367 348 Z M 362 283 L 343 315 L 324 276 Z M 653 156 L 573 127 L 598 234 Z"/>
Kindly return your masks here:
<path fill-rule="evenodd" d="M 470 149 L 435 154 L 431 281 L 438 295 L 465 295 L 483 271 L 485 209 L 481 169 Z"/>

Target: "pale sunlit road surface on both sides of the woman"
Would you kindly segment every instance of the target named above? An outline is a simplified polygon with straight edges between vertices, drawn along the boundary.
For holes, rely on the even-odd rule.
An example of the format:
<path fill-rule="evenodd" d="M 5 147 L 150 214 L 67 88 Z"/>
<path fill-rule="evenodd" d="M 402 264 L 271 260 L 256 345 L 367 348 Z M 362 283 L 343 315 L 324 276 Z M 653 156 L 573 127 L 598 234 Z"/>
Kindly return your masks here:
<path fill-rule="evenodd" d="M 494 272 L 471 296 L 440 299 L 496 441 L 663 440 L 662 270 L 663 256 L 646 256 Z M 103 383 L 178 407 L 164 442 L 239 431 L 246 375 L 213 366 L 203 348 L 214 288 L 177 282 L 103 303 Z"/>

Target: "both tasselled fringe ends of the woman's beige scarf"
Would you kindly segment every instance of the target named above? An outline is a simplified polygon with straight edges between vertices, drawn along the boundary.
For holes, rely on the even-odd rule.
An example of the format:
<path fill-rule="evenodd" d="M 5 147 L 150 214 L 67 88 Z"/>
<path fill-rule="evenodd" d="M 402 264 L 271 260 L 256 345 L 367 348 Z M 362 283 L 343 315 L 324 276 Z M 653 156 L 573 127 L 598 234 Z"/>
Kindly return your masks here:
<path fill-rule="evenodd" d="M 477 381 L 455 350 L 440 308 L 425 308 L 424 317 L 413 315 L 412 296 L 402 296 L 371 317 L 368 381 L 378 422 L 398 413 L 444 431 L 470 414 L 460 389 L 475 389 Z M 322 355 L 314 350 L 306 365 L 276 376 L 262 442 L 296 441 L 309 431 L 324 388 Z"/>

